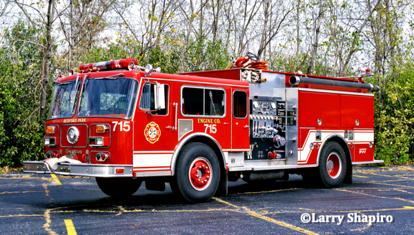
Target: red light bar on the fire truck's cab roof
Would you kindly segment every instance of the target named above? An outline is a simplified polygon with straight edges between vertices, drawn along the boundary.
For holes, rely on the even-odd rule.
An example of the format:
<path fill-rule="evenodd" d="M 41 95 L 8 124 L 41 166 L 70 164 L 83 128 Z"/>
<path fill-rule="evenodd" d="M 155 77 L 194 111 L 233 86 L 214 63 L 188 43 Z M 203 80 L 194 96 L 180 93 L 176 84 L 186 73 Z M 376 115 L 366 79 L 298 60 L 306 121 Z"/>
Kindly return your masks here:
<path fill-rule="evenodd" d="M 137 60 L 132 58 L 126 58 L 122 60 L 110 60 L 103 61 L 98 63 L 86 64 L 79 66 L 79 70 L 82 73 L 87 73 L 90 71 L 107 71 L 112 69 L 129 69 L 131 70 L 134 65 L 137 65 Z"/>

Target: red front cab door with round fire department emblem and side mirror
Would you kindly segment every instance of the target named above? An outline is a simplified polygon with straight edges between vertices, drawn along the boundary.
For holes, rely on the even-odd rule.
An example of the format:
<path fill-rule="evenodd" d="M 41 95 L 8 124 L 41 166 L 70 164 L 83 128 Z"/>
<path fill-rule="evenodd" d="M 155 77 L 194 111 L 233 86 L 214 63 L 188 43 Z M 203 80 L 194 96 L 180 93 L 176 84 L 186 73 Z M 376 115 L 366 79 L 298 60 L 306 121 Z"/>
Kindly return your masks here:
<path fill-rule="evenodd" d="M 173 83 L 152 78 L 142 85 L 134 122 L 134 172 L 168 175 L 178 134 L 174 131 Z M 158 98 L 158 99 L 157 99 Z M 177 102 L 177 100 L 175 101 Z"/>

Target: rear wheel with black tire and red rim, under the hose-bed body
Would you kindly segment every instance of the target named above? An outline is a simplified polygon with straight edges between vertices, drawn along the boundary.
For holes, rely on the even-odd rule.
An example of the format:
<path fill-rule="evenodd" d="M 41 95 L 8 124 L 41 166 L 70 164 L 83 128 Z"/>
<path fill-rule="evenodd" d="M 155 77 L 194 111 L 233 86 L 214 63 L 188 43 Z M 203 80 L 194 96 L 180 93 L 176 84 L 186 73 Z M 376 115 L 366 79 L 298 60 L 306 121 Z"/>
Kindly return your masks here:
<path fill-rule="evenodd" d="M 319 159 L 319 174 L 326 188 L 335 188 L 344 181 L 346 157 L 344 149 L 337 142 L 327 142 Z"/>

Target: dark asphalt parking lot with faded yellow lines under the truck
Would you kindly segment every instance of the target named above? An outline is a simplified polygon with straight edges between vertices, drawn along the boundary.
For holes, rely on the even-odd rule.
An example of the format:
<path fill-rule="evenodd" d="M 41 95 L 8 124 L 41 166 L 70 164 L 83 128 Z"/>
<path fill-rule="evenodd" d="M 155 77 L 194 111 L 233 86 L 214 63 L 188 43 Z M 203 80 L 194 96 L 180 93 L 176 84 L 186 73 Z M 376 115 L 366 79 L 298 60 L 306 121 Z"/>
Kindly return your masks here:
<path fill-rule="evenodd" d="M 227 197 L 199 204 L 144 183 L 120 200 L 94 178 L 0 175 L 0 234 L 414 234 L 412 166 L 355 167 L 353 175 L 335 189 L 310 188 L 297 175 L 239 180 Z"/>

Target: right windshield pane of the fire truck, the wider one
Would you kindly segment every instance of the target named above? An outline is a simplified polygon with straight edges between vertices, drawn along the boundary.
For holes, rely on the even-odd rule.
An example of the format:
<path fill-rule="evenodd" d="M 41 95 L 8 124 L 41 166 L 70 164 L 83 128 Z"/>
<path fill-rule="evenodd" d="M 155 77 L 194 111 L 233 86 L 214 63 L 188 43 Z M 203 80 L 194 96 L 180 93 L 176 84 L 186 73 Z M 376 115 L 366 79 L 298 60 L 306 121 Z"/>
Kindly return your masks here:
<path fill-rule="evenodd" d="M 132 117 L 138 82 L 128 78 L 95 78 L 83 82 L 78 117 Z"/>

